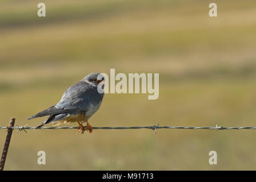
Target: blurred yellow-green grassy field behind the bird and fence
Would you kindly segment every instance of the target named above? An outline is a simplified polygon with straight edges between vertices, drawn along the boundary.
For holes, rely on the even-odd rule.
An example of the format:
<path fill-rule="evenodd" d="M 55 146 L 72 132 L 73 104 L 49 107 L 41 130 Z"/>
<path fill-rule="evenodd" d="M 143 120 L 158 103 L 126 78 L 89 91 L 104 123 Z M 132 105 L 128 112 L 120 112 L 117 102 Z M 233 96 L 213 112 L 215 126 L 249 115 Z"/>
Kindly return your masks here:
<path fill-rule="evenodd" d="M 256 2 L 0 1 L 0 126 L 37 126 L 91 72 L 159 73 L 159 98 L 105 94 L 92 126 L 256 126 Z M 51 126 L 51 125 L 48 125 Z M 64 125 L 65 126 L 65 125 Z M 76 126 L 76 125 L 74 125 Z M 0 150 L 6 131 L 0 130 Z M 254 130 L 29 130 L 6 170 L 252 170 Z M 46 165 L 37 152 L 46 152 Z M 217 151 L 218 164 L 208 155 Z"/>

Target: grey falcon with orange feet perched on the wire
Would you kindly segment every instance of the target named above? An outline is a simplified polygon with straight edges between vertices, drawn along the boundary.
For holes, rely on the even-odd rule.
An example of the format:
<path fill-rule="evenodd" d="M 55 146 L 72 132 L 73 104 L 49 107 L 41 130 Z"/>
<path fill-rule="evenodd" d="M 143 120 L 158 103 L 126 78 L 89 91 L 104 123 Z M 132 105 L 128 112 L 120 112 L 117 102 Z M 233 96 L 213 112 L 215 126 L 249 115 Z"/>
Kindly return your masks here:
<path fill-rule="evenodd" d="M 58 104 L 27 119 L 49 115 L 36 129 L 50 122 L 54 122 L 55 124 L 77 122 L 79 125 L 78 131 L 84 133 L 87 130 L 91 133 L 93 127 L 89 124 L 88 119 L 101 106 L 104 92 L 98 92 L 98 86 L 101 86 L 103 89 L 104 79 L 100 73 L 90 73 L 77 84 L 68 88 Z M 83 127 L 84 122 L 87 123 L 86 127 Z"/>

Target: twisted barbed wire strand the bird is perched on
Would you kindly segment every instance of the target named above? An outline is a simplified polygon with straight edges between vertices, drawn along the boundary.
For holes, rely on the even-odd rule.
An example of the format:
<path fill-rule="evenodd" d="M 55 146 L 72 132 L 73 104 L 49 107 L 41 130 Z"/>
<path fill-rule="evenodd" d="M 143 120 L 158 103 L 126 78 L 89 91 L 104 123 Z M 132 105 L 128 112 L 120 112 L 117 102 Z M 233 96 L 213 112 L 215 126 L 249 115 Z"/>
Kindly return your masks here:
<path fill-rule="evenodd" d="M 33 130 L 36 129 L 36 127 L 27 127 L 28 125 L 25 126 L 14 126 L 14 127 L 0 127 L 0 129 L 13 129 L 18 131 L 25 131 L 26 130 Z M 79 129 L 79 127 L 69 127 L 69 126 L 64 126 L 64 127 L 38 127 L 37 129 L 41 130 L 59 130 L 59 129 Z M 155 134 L 157 133 L 157 129 L 185 129 L 185 130 L 255 130 L 256 127 L 223 127 L 223 126 L 218 126 L 216 125 L 215 127 L 211 126 L 202 126 L 202 127 L 188 127 L 188 126 L 159 126 L 159 124 L 156 126 L 131 126 L 131 127 L 93 127 L 94 130 L 127 130 L 127 129 L 151 129 L 155 131 Z"/>

